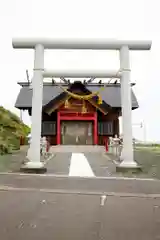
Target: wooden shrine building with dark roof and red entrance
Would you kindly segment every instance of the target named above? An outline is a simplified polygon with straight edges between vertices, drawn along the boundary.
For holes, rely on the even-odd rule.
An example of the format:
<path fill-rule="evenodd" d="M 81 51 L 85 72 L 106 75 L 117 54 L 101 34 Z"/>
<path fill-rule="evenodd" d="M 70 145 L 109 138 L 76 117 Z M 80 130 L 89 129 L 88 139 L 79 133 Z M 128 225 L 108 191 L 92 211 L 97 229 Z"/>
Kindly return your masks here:
<path fill-rule="evenodd" d="M 32 115 L 32 88 L 21 86 L 15 107 Z M 131 84 L 132 110 L 138 102 Z M 103 89 L 102 89 L 103 88 Z M 44 82 L 42 130 L 51 145 L 103 145 L 106 137 L 119 136 L 120 83 L 89 81 Z"/>

